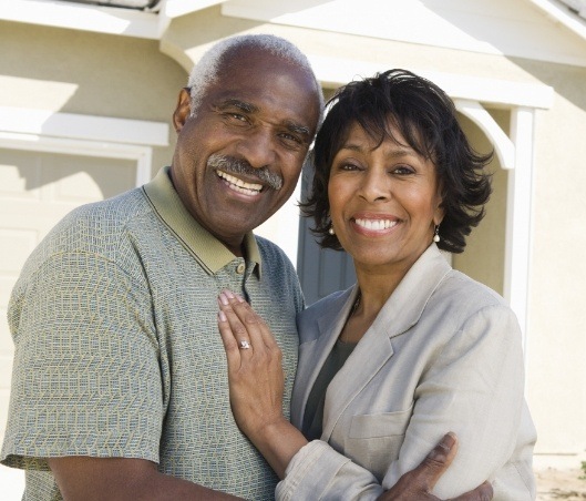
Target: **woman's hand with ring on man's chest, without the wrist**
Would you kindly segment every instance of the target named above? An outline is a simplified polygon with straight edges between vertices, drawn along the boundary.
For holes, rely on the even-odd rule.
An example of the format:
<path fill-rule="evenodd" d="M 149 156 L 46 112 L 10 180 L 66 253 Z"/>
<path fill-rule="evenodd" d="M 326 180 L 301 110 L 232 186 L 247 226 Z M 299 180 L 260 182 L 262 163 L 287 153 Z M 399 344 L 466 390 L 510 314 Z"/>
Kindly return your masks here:
<path fill-rule="evenodd" d="M 285 420 L 281 351 L 268 326 L 240 296 L 224 290 L 218 304 L 232 410 L 253 440 L 265 427 Z"/>

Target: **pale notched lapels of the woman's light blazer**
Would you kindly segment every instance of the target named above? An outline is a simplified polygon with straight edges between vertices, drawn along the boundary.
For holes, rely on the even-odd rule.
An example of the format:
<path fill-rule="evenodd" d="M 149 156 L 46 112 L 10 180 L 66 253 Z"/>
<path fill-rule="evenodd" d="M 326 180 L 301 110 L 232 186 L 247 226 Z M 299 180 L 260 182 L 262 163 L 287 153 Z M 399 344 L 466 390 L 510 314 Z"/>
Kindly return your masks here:
<path fill-rule="evenodd" d="M 348 405 L 392 357 L 391 339 L 418 323 L 429 298 L 450 270 L 450 265 L 433 244 L 401 280 L 328 387 L 323 410 L 323 440 L 329 440 L 338 419 Z M 325 347 L 326 354 L 319 354 L 320 361 L 316 364 L 313 374 L 319 374 L 346 318 L 346 316 L 342 317 L 342 325 L 339 321 L 336 324 L 336 333 L 330 333 L 333 340 L 329 339 L 328 346 Z"/>

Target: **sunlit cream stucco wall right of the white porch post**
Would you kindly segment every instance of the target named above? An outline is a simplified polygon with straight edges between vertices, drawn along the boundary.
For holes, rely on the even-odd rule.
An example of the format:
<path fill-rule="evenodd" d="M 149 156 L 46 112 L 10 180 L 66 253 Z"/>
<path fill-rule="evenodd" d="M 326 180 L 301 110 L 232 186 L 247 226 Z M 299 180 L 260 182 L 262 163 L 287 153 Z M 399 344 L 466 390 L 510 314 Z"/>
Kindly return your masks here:
<path fill-rule="evenodd" d="M 586 69 L 523 65 L 556 91 L 535 131 L 527 395 L 537 451 L 586 459 Z"/>

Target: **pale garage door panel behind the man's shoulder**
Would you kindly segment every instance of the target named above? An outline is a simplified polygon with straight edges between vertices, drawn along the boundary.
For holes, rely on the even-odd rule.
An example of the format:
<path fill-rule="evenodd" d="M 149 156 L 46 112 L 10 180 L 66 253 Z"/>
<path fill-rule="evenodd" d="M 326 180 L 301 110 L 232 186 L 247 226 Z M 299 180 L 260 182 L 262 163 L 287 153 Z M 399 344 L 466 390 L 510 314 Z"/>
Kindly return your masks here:
<path fill-rule="evenodd" d="M 14 352 L 7 307 L 24 260 L 68 212 L 132 188 L 135 177 L 134 161 L 0 149 L 0 442 Z"/>

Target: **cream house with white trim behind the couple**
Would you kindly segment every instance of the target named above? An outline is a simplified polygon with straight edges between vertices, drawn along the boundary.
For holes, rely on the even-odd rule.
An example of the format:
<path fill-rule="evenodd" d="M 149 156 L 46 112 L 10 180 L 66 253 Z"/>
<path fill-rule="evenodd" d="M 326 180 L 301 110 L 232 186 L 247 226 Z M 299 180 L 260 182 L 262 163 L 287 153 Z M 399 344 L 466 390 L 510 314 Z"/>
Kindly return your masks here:
<path fill-rule="evenodd" d="M 60 217 L 169 163 L 171 115 L 202 53 L 225 37 L 259 32 L 308 54 L 327 94 L 390 68 L 428 76 L 454 100 L 475 149 L 494 149 L 487 216 L 451 259 L 518 316 L 536 468 L 578 468 L 586 460 L 585 0 L 0 0 L 2 317 L 25 257 Z M 343 255 L 325 258 L 304 223 L 297 232 L 295 200 L 258 233 L 297 263 L 311 301 L 352 276 Z M 2 319 L 0 436 L 12 354 Z"/>

